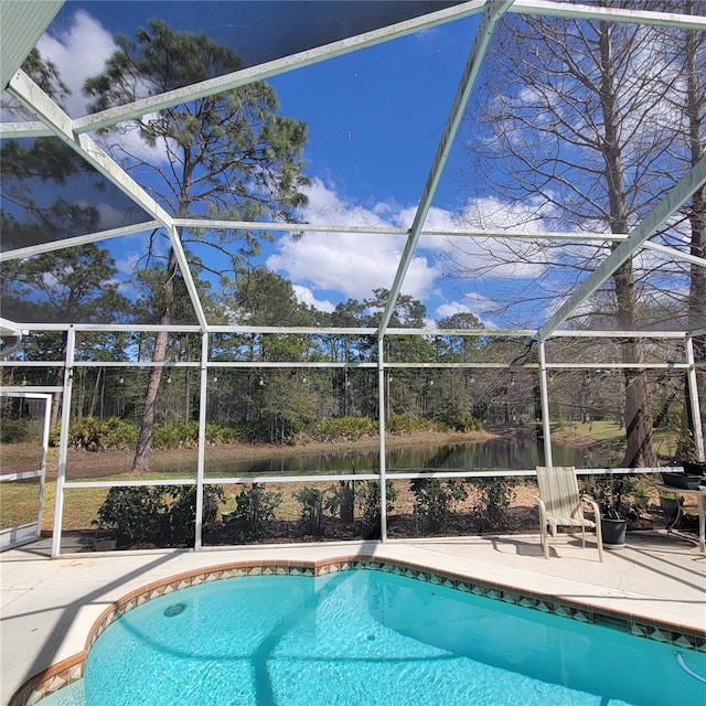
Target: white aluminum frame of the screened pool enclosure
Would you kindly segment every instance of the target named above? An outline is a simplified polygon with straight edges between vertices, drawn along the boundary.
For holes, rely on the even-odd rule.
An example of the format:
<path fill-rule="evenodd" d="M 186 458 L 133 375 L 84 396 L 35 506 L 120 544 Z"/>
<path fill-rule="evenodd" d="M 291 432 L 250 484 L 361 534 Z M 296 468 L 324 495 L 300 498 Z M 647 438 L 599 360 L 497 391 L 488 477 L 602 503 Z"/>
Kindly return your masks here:
<path fill-rule="evenodd" d="M 0 28 L 2 32 L 3 49 L 8 45 L 8 38 L 12 36 L 12 32 L 22 29 L 22 39 L 29 45 L 31 44 L 28 38 L 34 38 L 34 34 L 39 36 L 39 33 L 44 29 L 50 21 L 52 13 L 55 13 L 61 7 L 61 2 L 52 0 L 51 8 L 49 3 L 45 3 L 47 8 L 43 11 L 36 12 L 36 19 L 32 18 L 32 13 L 35 12 L 38 3 L 24 2 L 13 6 L 13 10 L 18 10 L 17 15 L 11 21 L 17 26 L 10 26 L 10 23 L 6 23 Z M 44 11 L 46 10 L 46 11 Z M 247 85 L 255 81 L 261 81 L 271 76 L 280 75 L 297 68 L 309 66 L 317 62 L 322 62 L 328 58 L 340 56 L 350 52 L 357 51 L 367 46 L 379 44 L 389 40 L 394 40 L 400 36 L 409 35 L 415 32 L 419 32 L 424 29 L 437 26 L 446 22 L 452 22 L 463 18 L 472 17 L 483 13 L 483 19 L 480 29 L 477 33 L 473 46 L 471 49 L 463 76 L 461 78 L 459 88 L 457 90 L 453 103 L 450 106 L 449 118 L 440 138 L 439 145 L 436 150 L 434 161 L 430 165 L 427 181 L 420 197 L 420 203 L 417 207 L 413 226 L 409 229 L 403 228 L 370 228 L 364 225 L 361 226 L 336 226 L 336 225 L 309 225 L 309 224 L 290 224 L 290 223 L 249 223 L 239 221 L 205 221 L 195 218 L 176 218 L 173 214 L 164 211 L 150 195 L 133 181 L 90 137 L 88 133 L 99 128 L 109 127 L 116 125 L 121 120 L 143 116 L 161 108 L 175 106 L 181 103 L 194 100 L 207 95 L 214 95 L 224 90 L 228 90 L 238 86 Z M 645 218 L 637 225 L 635 228 L 629 234 L 601 234 L 601 233 L 520 233 L 520 232 L 485 232 L 478 229 L 425 229 L 425 222 L 429 212 L 434 194 L 441 178 L 442 170 L 445 168 L 451 142 L 457 133 L 459 122 L 461 119 L 462 110 L 466 103 L 471 95 L 474 86 L 478 72 L 482 66 L 482 60 L 488 49 L 489 41 L 496 29 L 499 20 L 504 13 L 528 13 L 528 14 L 544 14 L 563 18 L 586 19 L 586 20 L 602 20 L 608 22 L 628 22 L 645 25 L 662 25 L 682 28 L 693 31 L 706 30 L 706 17 L 680 14 L 670 12 L 649 12 L 642 10 L 619 9 L 619 8 L 603 8 L 596 6 L 581 6 L 581 4 L 567 4 L 564 2 L 552 2 L 547 0 L 471 0 L 451 8 L 431 12 L 429 14 L 414 18 L 404 22 L 392 24 L 389 26 L 383 26 L 371 32 L 365 32 L 355 36 L 350 36 L 336 42 L 332 42 L 327 45 L 315 46 L 313 49 L 285 56 L 275 61 L 266 62 L 264 64 L 252 66 L 243 71 L 234 72 L 225 76 L 220 76 L 213 79 L 200 82 L 183 88 L 170 90 L 157 96 L 150 96 L 136 100 L 125 106 L 118 106 L 109 108 L 100 113 L 72 119 L 66 115 L 60 106 L 52 100 L 46 94 L 44 94 L 39 86 L 36 86 L 22 71 L 19 71 L 23 60 L 23 52 L 15 51 L 11 54 L 11 61 L 13 65 L 8 66 L 7 62 L 3 66 L 3 84 L 7 76 L 11 76 L 9 84 L 7 85 L 8 92 L 15 97 L 26 109 L 29 109 L 39 119 L 17 122 L 17 124 L 0 124 L 0 138 L 19 138 L 19 137 L 43 137 L 55 136 L 66 142 L 72 149 L 81 154 L 89 164 L 97 169 L 105 178 L 113 182 L 118 189 L 120 189 L 127 196 L 135 202 L 146 214 L 151 218 L 133 226 L 125 226 L 121 228 L 114 228 L 100 233 L 89 233 L 69 238 L 67 240 L 46 243 L 32 247 L 21 248 L 12 252 L 1 253 L 0 261 L 15 259 L 19 257 L 30 257 L 39 253 L 52 252 L 58 248 L 83 245 L 86 243 L 94 243 L 103 239 L 121 237 L 131 233 L 136 233 L 142 229 L 150 229 L 154 227 L 163 227 L 170 244 L 176 254 L 179 260 L 179 267 L 184 278 L 189 296 L 191 298 L 197 324 L 193 327 L 159 327 L 159 325 L 104 325 L 93 327 L 88 324 L 75 324 L 66 327 L 63 324 L 47 324 L 47 325 L 28 325 L 22 322 L 7 322 L 8 330 L 45 330 L 45 331 L 67 331 L 68 345 L 66 350 L 66 360 L 58 362 L 51 361 L 34 361 L 34 362 L 8 362 L 4 365 L 21 365 L 24 367 L 50 367 L 50 366 L 64 366 L 64 381 L 62 386 L 62 395 L 64 404 L 62 406 L 62 421 L 60 434 L 60 457 L 58 457 L 58 473 L 57 473 L 57 486 L 56 486 L 56 506 L 55 506 L 55 530 L 52 538 L 52 555 L 58 556 L 61 547 L 61 532 L 62 532 L 62 515 L 63 515 L 63 502 L 64 490 L 66 488 L 93 488 L 93 486 L 110 486 L 110 483 L 89 483 L 89 482 L 67 482 L 66 481 L 66 448 L 68 438 L 68 418 L 71 413 L 71 391 L 73 381 L 73 371 L 76 367 L 90 367 L 93 365 L 100 366 L 128 366 L 128 367 L 151 367 L 151 366 L 164 366 L 164 367 L 199 367 L 201 379 L 201 408 L 200 408 L 200 432 L 199 432 L 199 460 L 196 479 L 185 479 L 184 481 L 159 481 L 159 484 L 173 484 L 173 483 L 193 483 L 195 482 L 197 489 L 201 491 L 204 485 L 204 468 L 205 468 L 205 409 L 206 409 L 206 395 L 207 395 L 207 373 L 212 367 L 352 367 L 349 363 L 246 363 L 246 362 L 213 362 L 207 360 L 208 338 L 213 333 L 218 332 L 247 332 L 247 333 L 302 333 L 302 334 L 341 334 L 341 335 L 374 335 L 377 338 L 378 343 L 378 360 L 376 363 L 365 363 L 356 365 L 356 367 L 370 367 L 377 370 L 378 378 L 378 397 L 379 397 L 379 474 L 370 474 L 370 478 L 376 478 L 381 482 L 381 496 L 382 496 L 382 526 L 381 534 L 383 541 L 387 536 L 386 527 L 386 488 L 385 480 L 387 478 L 427 478 L 427 477 L 446 477 L 445 473 L 419 473 L 419 474 L 387 474 L 385 468 L 385 375 L 386 372 L 396 367 L 505 367 L 504 364 L 409 364 L 409 363 L 388 363 L 384 360 L 383 342 L 385 336 L 388 335 L 481 335 L 484 338 L 492 338 L 496 335 L 503 336 L 525 336 L 533 338 L 538 342 L 538 364 L 524 365 L 525 368 L 538 370 L 539 376 L 539 389 L 541 389 L 541 404 L 543 413 L 543 434 L 545 445 L 546 463 L 552 463 L 552 441 L 549 429 L 549 400 L 547 392 L 547 371 L 552 368 L 585 368 L 590 370 L 593 367 L 600 368 L 614 368 L 621 370 L 627 367 L 641 367 L 643 370 L 684 370 L 686 371 L 691 397 L 692 397 L 692 413 L 696 420 L 695 426 L 695 440 L 697 443 L 699 458 L 704 459 L 704 438 L 702 435 L 702 426 L 699 418 L 699 405 L 697 398 L 697 385 L 696 385 L 696 371 L 702 367 L 694 361 L 694 352 L 692 345 L 692 338 L 694 335 L 704 335 L 706 329 L 699 329 L 692 332 L 665 332 L 665 331 L 566 331 L 560 330 L 559 327 L 566 321 L 566 318 L 576 310 L 581 303 L 590 297 L 600 285 L 610 277 L 610 275 L 620 266 L 627 258 L 634 255 L 641 248 L 649 248 L 659 252 L 662 255 L 671 256 L 676 259 L 684 260 L 698 267 L 706 267 L 706 259 L 694 257 L 688 253 L 678 250 L 676 248 L 667 248 L 665 246 L 650 243 L 649 238 L 655 233 L 655 231 L 668 220 L 675 211 L 688 200 L 692 194 L 706 183 L 706 158 L 702 159 L 680 182 L 672 189 L 671 192 L 663 199 L 663 201 L 653 208 Z M 3 6 L 3 20 L 7 19 L 7 9 Z M 28 50 L 29 51 L 29 50 Z M 3 60 L 6 54 L 3 53 Z M 10 71 L 11 68 L 11 71 Z M 7 72 L 7 75 L 6 75 Z M 3 85 L 4 87 L 4 85 Z M 387 301 L 381 325 L 377 329 L 299 329 L 299 328 L 285 328 L 272 329 L 267 327 L 247 328 L 247 327 L 214 327 L 210 325 L 197 296 L 197 290 L 191 271 L 189 268 L 188 259 L 183 247 L 181 245 L 178 229 L 181 227 L 218 227 L 218 228 L 248 228 L 248 229 L 268 229 L 268 231 L 318 231 L 318 232 L 339 232 L 339 233 L 360 233 L 360 234 L 375 234 L 379 236 L 406 236 L 406 245 L 395 274 L 393 287 L 391 289 L 391 297 Z M 420 237 L 494 237 L 494 238 L 542 238 L 542 239 L 558 239 L 566 238 L 570 240 L 593 240 L 593 242 L 620 242 L 613 253 L 611 253 L 606 260 L 584 281 L 582 285 L 574 292 L 571 297 L 547 320 L 547 322 L 538 330 L 512 330 L 512 331 L 454 331 L 454 330 L 427 330 L 427 329 L 393 329 L 389 328 L 389 321 L 397 297 L 402 290 L 405 276 L 407 274 L 408 266 L 414 256 L 415 249 L 418 246 Z M 3 321 L 3 325 L 6 322 Z M 133 362 L 79 362 L 74 360 L 75 336 L 79 331 L 157 331 L 168 330 L 174 332 L 192 332 L 200 333 L 202 336 L 202 352 L 199 361 L 179 362 L 179 363 L 160 363 L 154 364 L 149 361 L 133 361 Z M 664 363 L 664 364 L 645 364 L 645 365 L 629 365 L 629 364 L 559 364 L 547 363 L 545 356 L 545 343 L 555 336 L 591 336 L 591 338 L 653 338 L 653 339 L 675 339 L 683 340 L 685 343 L 686 360 L 681 363 Z M 50 388 L 47 388 L 50 389 Z M 40 388 L 22 388 L 22 387 L 7 387 L 2 394 L 41 394 Z M 530 473 L 531 471 L 527 471 Z M 468 473 L 466 475 L 479 475 L 480 473 Z M 513 474 L 524 474 L 523 472 L 514 472 Z M 454 475 L 456 477 L 456 475 Z M 306 475 L 297 478 L 288 478 L 290 480 L 322 480 L 328 477 Z M 338 480 L 345 479 L 347 477 L 336 475 Z M 357 474 L 355 479 L 365 479 L 368 475 Z M 218 479 L 218 480 L 232 480 L 234 482 L 240 482 L 244 479 Z M 247 479 L 252 481 L 252 479 Z M 277 479 L 278 482 L 285 482 L 282 479 Z M 264 478 L 264 482 L 270 482 L 269 478 Z M 272 481 L 274 482 L 274 481 Z M 114 485 L 126 485 L 125 482 L 113 483 Z M 156 484 L 154 481 L 132 481 L 131 485 L 145 485 Z M 202 545 L 202 492 L 197 493 L 197 509 L 196 509 L 196 549 Z"/>

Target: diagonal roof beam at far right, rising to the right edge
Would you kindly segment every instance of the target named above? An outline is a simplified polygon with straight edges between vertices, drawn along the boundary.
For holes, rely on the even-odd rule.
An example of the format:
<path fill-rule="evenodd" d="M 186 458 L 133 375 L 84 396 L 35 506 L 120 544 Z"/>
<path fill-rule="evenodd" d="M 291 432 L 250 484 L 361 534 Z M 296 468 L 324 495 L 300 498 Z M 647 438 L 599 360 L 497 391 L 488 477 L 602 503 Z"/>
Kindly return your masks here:
<path fill-rule="evenodd" d="M 539 341 L 544 341 L 590 297 L 625 260 L 640 249 L 645 240 L 682 206 L 697 190 L 706 184 L 706 156 L 666 192 L 662 201 L 635 226 L 623 240 L 590 275 L 580 287 L 557 309 L 539 329 Z"/>

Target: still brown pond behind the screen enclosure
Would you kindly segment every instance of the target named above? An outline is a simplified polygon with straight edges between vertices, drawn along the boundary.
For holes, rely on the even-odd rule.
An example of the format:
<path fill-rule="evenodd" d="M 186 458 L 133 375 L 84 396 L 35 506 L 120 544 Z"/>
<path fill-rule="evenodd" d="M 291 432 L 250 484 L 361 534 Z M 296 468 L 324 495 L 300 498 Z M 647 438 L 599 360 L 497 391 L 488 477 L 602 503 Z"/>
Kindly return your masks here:
<path fill-rule="evenodd" d="M 565 445 L 553 445 L 556 466 L 576 468 L 609 468 L 616 459 L 599 456 L 586 449 Z M 489 439 L 480 442 L 418 443 L 388 448 L 386 468 L 388 472 L 420 470 L 530 470 L 541 466 L 544 453 L 533 437 Z M 365 473 L 377 472 L 377 450 L 333 448 L 320 453 L 297 453 L 255 460 L 234 458 L 210 463 L 206 453 L 206 473 L 210 478 L 226 475 L 314 474 L 314 473 Z"/>

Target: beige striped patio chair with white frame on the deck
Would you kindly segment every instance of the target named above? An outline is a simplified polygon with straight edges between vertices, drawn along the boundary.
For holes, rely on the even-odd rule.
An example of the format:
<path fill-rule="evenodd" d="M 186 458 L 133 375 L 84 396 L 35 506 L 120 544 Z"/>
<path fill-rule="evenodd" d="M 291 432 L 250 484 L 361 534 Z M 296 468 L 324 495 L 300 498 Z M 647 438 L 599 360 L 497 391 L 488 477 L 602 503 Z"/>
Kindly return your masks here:
<path fill-rule="evenodd" d="M 584 548 L 586 548 L 586 527 L 595 528 L 598 541 L 598 558 L 602 561 L 603 538 L 600 531 L 600 512 L 592 499 L 579 495 L 574 467 L 537 466 L 537 485 L 539 486 L 539 495 L 536 498 L 539 503 L 539 532 L 545 558 L 549 558 L 547 527 L 552 528 L 552 536 L 556 537 L 556 528 L 561 525 L 581 528 Z M 591 505 L 596 522 L 584 517 L 582 502 Z"/>

